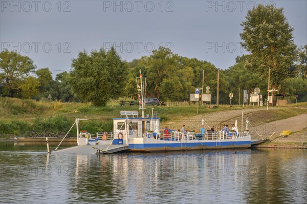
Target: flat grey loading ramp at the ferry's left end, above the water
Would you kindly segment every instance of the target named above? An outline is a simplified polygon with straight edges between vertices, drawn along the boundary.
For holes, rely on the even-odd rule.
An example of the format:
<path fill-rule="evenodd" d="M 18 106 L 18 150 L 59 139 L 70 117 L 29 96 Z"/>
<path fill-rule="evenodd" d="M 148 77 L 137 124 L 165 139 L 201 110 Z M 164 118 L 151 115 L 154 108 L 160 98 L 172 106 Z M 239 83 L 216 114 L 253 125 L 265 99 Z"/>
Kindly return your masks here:
<path fill-rule="evenodd" d="M 70 148 L 65 148 L 61 150 L 53 151 L 56 154 L 109 154 L 116 153 L 120 151 L 127 150 L 129 146 L 127 145 L 111 145 L 107 151 L 104 151 L 108 145 L 87 145 L 87 146 L 75 146 Z"/>

